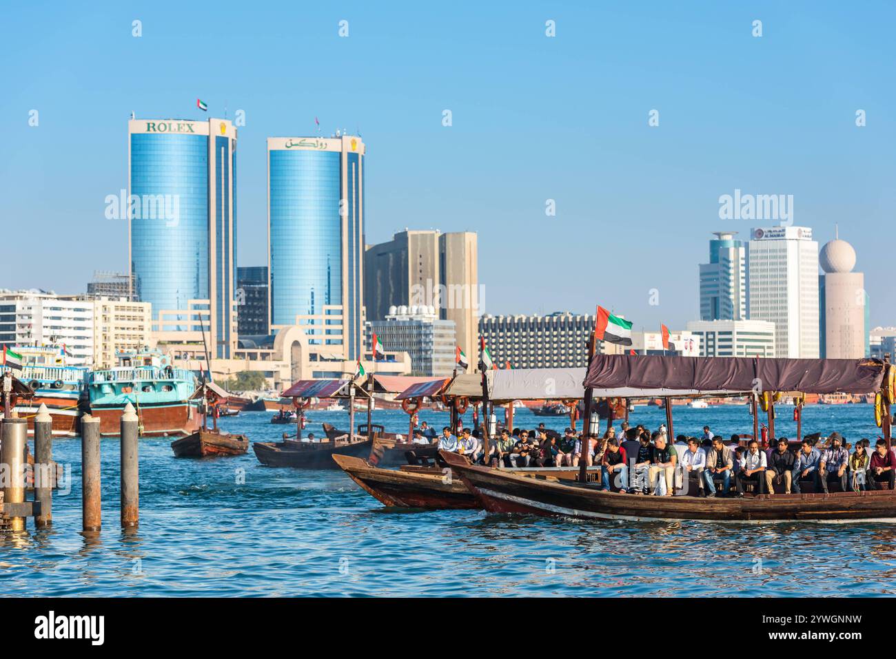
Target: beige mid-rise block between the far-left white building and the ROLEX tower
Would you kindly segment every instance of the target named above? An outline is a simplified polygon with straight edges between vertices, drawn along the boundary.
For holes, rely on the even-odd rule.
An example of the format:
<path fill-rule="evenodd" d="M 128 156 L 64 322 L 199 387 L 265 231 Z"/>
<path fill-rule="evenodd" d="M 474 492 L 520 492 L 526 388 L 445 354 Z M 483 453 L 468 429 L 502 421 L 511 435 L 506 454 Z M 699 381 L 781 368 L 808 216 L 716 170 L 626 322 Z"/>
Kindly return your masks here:
<path fill-rule="evenodd" d="M 93 298 L 93 367 L 116 365 L 116 353 L 151 345 L 152 309 L 148 302 L 126 297 Z"/>

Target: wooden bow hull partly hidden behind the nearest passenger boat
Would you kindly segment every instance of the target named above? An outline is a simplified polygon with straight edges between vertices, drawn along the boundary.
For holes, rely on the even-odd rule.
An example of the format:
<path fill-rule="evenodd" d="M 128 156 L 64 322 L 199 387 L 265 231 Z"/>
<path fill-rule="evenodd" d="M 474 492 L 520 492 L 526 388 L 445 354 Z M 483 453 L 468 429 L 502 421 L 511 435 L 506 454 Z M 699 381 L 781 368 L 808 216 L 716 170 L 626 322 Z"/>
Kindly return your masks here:
<path fill-rule="evenodd" d="M 334 455 L 334 463 L 384 505 L 399 508 L 477 509 L 477 498 L 460 479 L 441 469 L 413 473 L 381 469 L 361 458 Z"/>

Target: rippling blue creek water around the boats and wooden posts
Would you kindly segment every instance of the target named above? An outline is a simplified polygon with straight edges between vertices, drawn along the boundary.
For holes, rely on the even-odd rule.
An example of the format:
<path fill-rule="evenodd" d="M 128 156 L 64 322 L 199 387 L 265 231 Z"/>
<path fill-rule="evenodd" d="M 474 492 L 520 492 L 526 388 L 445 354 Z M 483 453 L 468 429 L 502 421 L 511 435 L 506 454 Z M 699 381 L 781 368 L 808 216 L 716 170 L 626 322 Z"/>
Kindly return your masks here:
<path fill-rule="evenodd" d="M 780 408 L 779 435 L 795 435 Z M 222 420 L 255 441 L 280 437 L 271 413 Z M 308 430 L 347 415 L 313 412 Z M 441 427 L 446 414 L 421 419 Z M 363 422 L 364 415 L 359 415 Z M 407 430 L 401 411 L 375 423 Z M 465 421 L 470 424 L 471 415 Z M 518 411 L 515 425 L 564 420 Z M 634 424 L 665 413 L 641 407 Z M 675 408 L 676 433 L 751 432 L 745 407 Z M 866 405 L 806 408 L 804 432 L 847 441 L 879 432 Z M 477 510 L 384 509 L 340 471 L 240 458 L 175 459 L 141 440 L 140 527 L 118 524 L 118 441 L 102 441 L 103 530 L 81 533 L 81 446 L 57 440 L 72 491 L 56 494 L 52 530 L 0 537 L 4 595 L 892 595 L 896 525 L 730 526 L 580 522 Z M 245 475 L 242 482 L 241 475 Z"/>

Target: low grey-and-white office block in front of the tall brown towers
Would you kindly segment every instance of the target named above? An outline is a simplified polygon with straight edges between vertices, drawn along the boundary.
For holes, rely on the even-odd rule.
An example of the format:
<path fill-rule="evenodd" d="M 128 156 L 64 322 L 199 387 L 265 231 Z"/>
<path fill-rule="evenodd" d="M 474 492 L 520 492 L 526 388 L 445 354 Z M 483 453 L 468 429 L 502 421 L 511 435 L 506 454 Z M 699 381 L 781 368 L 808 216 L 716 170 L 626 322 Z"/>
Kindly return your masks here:
<path fill-rule="evenodd" d="M 367 349 L 373 335 L 387 352 L 406 352 L 411 375 L 449 376 L 454 371 L 454 321 L 442 321 L 435 307 L 392 307 L 383 321 L 367 322 Z"/>

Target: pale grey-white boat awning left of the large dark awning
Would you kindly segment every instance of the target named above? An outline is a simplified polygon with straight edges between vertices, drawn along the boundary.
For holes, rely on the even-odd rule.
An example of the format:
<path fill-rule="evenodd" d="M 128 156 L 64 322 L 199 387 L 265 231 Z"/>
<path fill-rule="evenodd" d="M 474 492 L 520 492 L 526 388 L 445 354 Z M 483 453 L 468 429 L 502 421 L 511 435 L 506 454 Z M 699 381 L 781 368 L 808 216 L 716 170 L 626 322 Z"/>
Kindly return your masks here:
<path fill-rule="evenodd" d="M 513 400 L 564 400 L 584 396 L 585 369 L 520 368 L 493 371 L 488 396 L 496 403 Z M 479 386 L 481 393 L 482 387 Z"/>

